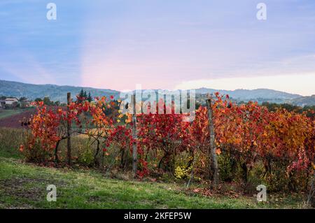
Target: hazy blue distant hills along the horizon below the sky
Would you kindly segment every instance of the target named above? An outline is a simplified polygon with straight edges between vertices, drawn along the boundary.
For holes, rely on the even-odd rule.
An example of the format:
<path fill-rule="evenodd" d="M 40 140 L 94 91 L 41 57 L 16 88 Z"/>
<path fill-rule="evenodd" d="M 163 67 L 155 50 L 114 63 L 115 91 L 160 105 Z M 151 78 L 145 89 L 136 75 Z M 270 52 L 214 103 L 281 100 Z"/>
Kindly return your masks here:
<path fill-rule="evenodd" d="M 59 85 L 32 85 L 22 82 L 14 82 L 7 80 L 0 80 L 0 96 L 14 96 L 20 98 L 21 96 L 27 99 L 34 100 L 36 98 L 43 98 L 49 96 L 52 101 L 66 101 L 66 92 L 71 92 L 73 96 L 78 94 L 83 89 L 90 92 L 92 96 L 110 96 L 116 98 L 120 92 L 112 89 L 97 89 L 92 87 L 73 87 L 73 86 L 59 86 Z M 289 94 L 273 89 L 236 89 L 234 91 L 200 88 L 195 89 L 197 97 L 203 97 L 205 94 L 220 92 L 221 94 L 229 94 L 232 99 L 237 101 L 269 101 L 273 103 L 296 103 L 307 104 L 314 103 L 314 96 L 303 97 L 299 94 Z M 305 98 L 305 99 L 304 99 Z"/>

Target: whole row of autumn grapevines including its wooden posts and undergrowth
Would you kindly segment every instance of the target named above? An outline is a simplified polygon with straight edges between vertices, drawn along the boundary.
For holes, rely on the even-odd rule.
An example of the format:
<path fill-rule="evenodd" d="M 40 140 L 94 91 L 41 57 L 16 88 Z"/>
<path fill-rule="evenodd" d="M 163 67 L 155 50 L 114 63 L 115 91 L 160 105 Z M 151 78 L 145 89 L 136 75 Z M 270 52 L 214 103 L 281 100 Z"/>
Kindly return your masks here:
<path fill-rule="evenodd" d="M 123 102 L 113 96 L 68 99 L 66 108 L 38 102 L 36 114 L 22 122 L 29 127 L 20 145 L 27 161 L 131 173 L 139 180 L 167 175 L 186 189 L 197 183 L 217 191 L 234 183 L 246 194 L 260 184 L 269 192 L 314 187 L 315 122 L 304 113 L 270 112 L 251 101 L 237 105 L 216 94 L 197 108 L 193 122 L 184 122 L 187 114 L 160 102 L 135 115 L 123 114 Z M 157 114 L 158 106 L 173 113 Z"/>

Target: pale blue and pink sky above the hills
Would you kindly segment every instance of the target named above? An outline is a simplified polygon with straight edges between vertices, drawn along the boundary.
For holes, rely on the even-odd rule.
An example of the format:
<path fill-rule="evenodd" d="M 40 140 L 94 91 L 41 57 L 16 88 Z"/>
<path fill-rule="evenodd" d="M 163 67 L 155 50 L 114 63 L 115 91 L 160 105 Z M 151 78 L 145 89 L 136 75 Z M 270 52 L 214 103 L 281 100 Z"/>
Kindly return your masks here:
<path fill-rule="evenodd" d="M 57 20 L 48 20 L 48 3 Z M 258 3 L 267 20 L 258 20 Z M 0 79 L 315 94 L 314 0 L 1 0 Z"/>

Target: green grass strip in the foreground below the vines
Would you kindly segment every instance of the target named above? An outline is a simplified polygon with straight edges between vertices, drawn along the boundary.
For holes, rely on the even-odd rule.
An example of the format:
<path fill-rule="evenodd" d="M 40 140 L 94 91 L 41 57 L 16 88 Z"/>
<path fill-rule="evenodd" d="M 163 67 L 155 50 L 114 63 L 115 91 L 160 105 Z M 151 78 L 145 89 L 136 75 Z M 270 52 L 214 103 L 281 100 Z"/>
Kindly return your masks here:
<path fill-rule="evenodd" d="M 102 173 L 47 168 L 0 157 L 0 208 L 300 208 L 300 196 L 269 203 L 254 197 L 204 197 L 175 183 L 104 178 Z M 57 187 L 57 201 L 46 201 L 46 187 Z"/>

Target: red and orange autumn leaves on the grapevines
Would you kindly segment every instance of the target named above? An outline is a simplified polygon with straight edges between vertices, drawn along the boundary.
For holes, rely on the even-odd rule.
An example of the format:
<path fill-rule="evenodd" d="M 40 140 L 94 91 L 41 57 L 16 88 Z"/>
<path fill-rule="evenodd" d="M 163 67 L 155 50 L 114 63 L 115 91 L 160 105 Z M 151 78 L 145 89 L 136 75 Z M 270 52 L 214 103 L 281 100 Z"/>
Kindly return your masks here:
<path fill-rule="evenodd" d="M 58 144 L 66 138 L 66 123 L 71 122 L 75 126 L 71 134 L 84 134 L 97 141 L 96 155 L 99 150 L 111 154 L 112 145 L 115 145 L 120 154 L 120 167 L 127 165 L 132 145 L 136 143 L 140 178 L 174 173 L 176 160 L 181 156 L 187 158 L 185 168 L 188 172 L 195 168 L 198 178 L 207 178 L 209 120 L 206 107 L 195 110 L 193 122 L 183 122 L 186 114 L 137 114 L 137 138 L 133 138 L 131 114 L 106 115 L 105 111 L 113 109 L 120 101 L 115 103 L 113 97 L 78 101 L 71 103 L 68 110 L 36 104 L 37 113 L 30 124 L 31 134 L 20 150 L 31 151 L 40 145 L 40 150 L 50 154 L 50 161 L 58 159 Z M 284 109 L 271 112 L 251 101 L 237 105 L 228 95 L 218 93 L 213 99 L 212 110 L 216 154 L 228 160 L 232 178 L 239 175 L 242 182 L 248 182 L 253 170 L 260 168 L 258 178 L 261 180 L 274 184 L 274 179 L 280 175 L 288 179 L 286 186 L 291 188 L 301 182 L 295 182 L 298 181 L 295 176 L 302 175 L 305 181 L 314 174 L 312 117 Z M 221 168 L 225 168 L 223 165 Z"/>

